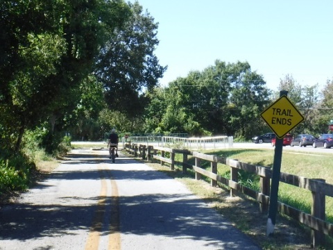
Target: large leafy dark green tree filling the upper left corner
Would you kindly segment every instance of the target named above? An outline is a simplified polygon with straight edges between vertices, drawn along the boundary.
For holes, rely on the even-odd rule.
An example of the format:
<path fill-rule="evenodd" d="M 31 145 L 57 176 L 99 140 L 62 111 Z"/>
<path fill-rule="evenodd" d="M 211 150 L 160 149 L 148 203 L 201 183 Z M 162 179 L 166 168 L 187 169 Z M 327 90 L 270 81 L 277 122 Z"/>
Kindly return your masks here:
<path fill-rule="evenodd" d="M 1 1 L 1 126 L 17 135 L 16 150 L 24 129 L 46 118 L 54 128 L 63 110 L 76 106 L 71 93 L 129 13 L 121 0 Z"/>

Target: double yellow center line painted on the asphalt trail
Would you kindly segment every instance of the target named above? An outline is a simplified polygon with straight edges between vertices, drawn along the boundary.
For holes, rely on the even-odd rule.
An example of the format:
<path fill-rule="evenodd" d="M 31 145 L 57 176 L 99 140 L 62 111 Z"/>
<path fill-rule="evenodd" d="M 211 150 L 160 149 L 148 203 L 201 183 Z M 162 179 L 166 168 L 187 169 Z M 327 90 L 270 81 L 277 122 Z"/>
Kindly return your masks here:
<path fill-rule="evenodd" d="M 98 250 L 99 243 L 103 228 L 103 218 L 105 217 L 105 210 L 108 206 L 108 179 L 111 183 L 111 204 L 108 210 L 110 213 L 110 222 L 108 226 L 108 249 L 121 249 L 120 238 L 120 222 L 119 222 L 119 193 L 117 183 L 112 178 L 110 171 L 106 172 L 105 167 L 99 166 L 99 174 L 101 176 L 101 193 L 99 195 L 99 201 L 94 213 L 94 219 L 92 221 L 92 228 L 85 244 L 85 250 Z"/>

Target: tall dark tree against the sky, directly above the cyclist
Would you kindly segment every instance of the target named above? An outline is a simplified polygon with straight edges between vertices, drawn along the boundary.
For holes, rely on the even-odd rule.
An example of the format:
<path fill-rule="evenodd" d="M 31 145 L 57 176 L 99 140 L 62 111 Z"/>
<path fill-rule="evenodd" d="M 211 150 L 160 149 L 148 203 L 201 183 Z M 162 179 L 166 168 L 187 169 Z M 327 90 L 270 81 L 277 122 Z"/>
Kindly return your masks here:
<path fill-rule="evenodd" d="M 135 117 L 144 110 L 144 92 L 153 90 L 166 67 L 159 65 L 154 54 L 158 24 L 138 2 L 128 5 L 132 15 L 102 47 L 96 74 L 104 84 L 109 107 Z"/>

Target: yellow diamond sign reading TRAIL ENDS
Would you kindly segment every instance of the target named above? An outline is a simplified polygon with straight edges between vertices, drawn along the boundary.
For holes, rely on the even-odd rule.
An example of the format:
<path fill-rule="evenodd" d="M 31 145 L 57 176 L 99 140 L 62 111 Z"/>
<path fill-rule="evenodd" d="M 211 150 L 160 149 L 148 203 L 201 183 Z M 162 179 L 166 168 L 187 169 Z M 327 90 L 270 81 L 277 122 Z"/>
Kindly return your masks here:
<path fill-rule="evenodd" d="M 278 138 L 283 138 L 304 120 L 304 117 L 285 95 L 266 108 L 260 116 Z"/>

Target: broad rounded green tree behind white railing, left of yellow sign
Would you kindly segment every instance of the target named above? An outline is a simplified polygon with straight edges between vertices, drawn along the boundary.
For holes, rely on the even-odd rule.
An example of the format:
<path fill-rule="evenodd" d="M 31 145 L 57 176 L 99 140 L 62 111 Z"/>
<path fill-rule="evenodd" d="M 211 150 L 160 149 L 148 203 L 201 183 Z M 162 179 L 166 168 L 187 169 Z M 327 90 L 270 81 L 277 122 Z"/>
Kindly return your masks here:
<path fill-rule="evenodd" d="M 259 112 L 270 94 L 262 76 L 251 72 L 248 63 L 220 60 L 203 72 L 177 78 L 164 93 L 163 131 L 244 138 L 264 126 Z"/>

